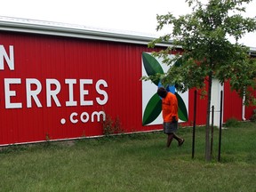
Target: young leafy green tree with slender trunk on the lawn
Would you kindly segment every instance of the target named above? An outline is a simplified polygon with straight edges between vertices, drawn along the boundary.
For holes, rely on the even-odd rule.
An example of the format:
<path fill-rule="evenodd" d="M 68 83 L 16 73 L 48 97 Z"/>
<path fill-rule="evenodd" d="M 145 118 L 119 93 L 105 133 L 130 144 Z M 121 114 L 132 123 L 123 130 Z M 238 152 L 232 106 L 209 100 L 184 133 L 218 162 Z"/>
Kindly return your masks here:
<path fill-rule="evenodd" d="M 160 36 L 148 44 L 155 47 L 160 42 L 171 42 L 172 46 L 160 52 L 154 52 L 156 57 L 162 57 L 169 70 L 156 76 L 143 76 L 143 80 L 161 79 L 162 84 L 175 84 L 180 92 L 190 88 L 206 92 L 208 84 L 207 118 L 205 128 L 205 160 L 210 161 L 210 108 L 212 95 L 212 78 L 220 84 L 229 81 L 231 89 L 241 97 L 246 104 L 255 104 L 253 92 L 256 89 L 256 62 L 249 57 L 249 48 L 239 44 L 238 40 L 248 32 L 256 30 L 256 17 L 244 18 L 244 4 L 252 0 L 209 0 L 203 4 L 199 0 L 187 0 L 192 12 L 175 18 L 172 13 L 157 15 L 157 28 L 171 26 L 171 33 Z M 205 2 L 205 1 L 204 1 Z M 235 44 L 228 37 L 236 40 Z M 181 47 L 179 54 L 170 59 L 168 54 Z M 179 67 L 172 67 L 175 61 Z"/>

